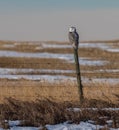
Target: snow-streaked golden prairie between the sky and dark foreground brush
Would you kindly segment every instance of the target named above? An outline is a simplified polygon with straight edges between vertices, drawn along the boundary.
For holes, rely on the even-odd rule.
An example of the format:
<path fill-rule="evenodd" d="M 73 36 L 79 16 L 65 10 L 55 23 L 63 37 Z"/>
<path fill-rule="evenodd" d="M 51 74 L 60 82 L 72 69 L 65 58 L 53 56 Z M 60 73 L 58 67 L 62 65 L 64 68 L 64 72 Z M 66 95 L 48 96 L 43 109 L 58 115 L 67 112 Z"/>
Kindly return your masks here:
<path fill-rule="evenodd" d="M 115 51 L 119 49 L 118 41 L 80 44 L 79 64 L 85 97 L 116 99 L 114 96 L 119 93 L 119 52 Z M 73 49 L 69 43 L 1 41 L 0 69 L 0 102 L 8 97 L 78 100 Z M 47 78 L 32 80 L 22 75 Z M 17 76 L 21 77 L 16 79 Z M 50 76 L 61 78 L 50 82 Z"/>

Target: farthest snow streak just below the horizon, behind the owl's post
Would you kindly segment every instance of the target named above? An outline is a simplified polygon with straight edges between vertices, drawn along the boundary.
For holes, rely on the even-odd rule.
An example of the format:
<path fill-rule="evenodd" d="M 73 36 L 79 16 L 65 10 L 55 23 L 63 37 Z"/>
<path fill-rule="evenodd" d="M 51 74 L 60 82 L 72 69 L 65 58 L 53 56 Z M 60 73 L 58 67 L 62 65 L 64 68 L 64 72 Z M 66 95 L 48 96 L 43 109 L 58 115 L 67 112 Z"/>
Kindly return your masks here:
<path fill-rule="evenodd" d="M 45 42 L 27 42 L 27 43 L 12 43 L 12 44 L 3 44 L 2 46 L 4 48 L 14 48 L 17 45 L 37 45 L 36 50 L 41 50 L 43 48 L 72 48 L 72 46 L 69 44 L 52 44 L 52 43 L 45 43 Z M 119 43 L 117 43 L 119 44 Z M 80 43 L 79 44 L 80 48 L 99 48 L 105 51 L 109 52 L 119 52 L 119 48 L 114 48 L 112 43 Z"/>

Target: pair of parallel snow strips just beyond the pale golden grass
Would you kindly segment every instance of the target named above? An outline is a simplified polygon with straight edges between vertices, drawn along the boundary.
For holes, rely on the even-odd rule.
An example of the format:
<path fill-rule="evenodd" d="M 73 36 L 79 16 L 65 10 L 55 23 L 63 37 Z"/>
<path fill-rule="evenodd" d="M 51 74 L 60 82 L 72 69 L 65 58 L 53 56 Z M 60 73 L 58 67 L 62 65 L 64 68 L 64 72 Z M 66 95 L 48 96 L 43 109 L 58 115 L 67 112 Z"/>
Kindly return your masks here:
<path fill-rule="evenodd" d="M 39 74 L 32 74 L 38 72 Z M 85 71 L 82 71 L 85 73 Z M 119 72 L 119 70 L 97 70 L 96 73 L 101 72 Z M 40 74 L 41 73 L 41 74 Z M 46 73 L 45 75 L 42 73 Z M 55 75 L 50 75 L 47 73 L 54 73 Z M 59 75 L 60 73 L 60 75 Z M 64 76 L 63 73 L 75 73 L 74 70 L 50 70 L 50 69 L 18 69 L 18 68 L 0 68 L 0 78 L 7 79 L 27 79 L 27 80 L 40 80 L 40 81 L 48 81 L 48 82 L 61 82 L 61 81 L 72 81 L 75 82 L 76 78 L 71 76 Z M 86 73 L 93 73 L 92 71 L 86 71 Z M 82 77 L 82 83 L 109 83 L 109 84 L 118 84 L 118 78 L 92 78 L 88 79 L 86 77 Z"/>

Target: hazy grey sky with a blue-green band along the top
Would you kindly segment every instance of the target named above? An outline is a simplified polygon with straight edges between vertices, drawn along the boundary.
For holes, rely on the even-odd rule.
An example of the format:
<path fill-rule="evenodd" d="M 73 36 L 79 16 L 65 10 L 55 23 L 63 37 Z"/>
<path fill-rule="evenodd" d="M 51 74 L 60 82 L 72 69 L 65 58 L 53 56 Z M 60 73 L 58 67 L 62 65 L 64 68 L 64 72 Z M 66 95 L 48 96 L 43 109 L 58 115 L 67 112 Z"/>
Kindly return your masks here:
<path fill-rule="evenodd" d="M 0 40 L 119 39 L 119 0 L 0 0 Z"/>

